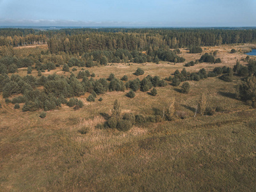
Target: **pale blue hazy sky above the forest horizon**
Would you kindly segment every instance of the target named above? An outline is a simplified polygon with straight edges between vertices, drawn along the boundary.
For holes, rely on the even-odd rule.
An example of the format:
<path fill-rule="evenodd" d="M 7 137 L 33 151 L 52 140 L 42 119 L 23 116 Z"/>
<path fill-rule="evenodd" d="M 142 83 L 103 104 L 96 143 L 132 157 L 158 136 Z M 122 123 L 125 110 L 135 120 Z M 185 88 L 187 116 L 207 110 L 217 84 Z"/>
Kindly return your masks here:
<path fill-rule="evenodd" d="M 250 27 L 256 0 L 0 0 L 0 26 Z"/>

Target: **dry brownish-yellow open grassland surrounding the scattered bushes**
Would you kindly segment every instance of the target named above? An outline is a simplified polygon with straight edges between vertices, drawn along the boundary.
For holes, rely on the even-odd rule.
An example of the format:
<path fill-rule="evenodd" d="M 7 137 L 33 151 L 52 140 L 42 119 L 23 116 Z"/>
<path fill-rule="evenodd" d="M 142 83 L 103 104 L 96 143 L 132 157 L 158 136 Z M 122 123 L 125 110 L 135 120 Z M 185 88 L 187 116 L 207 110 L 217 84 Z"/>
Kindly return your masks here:
<path fill-rule="evenodd" d="M 247 46 L 247 45 L 246 45 Z M 197 72 L 204 67 L 232 67 L 245 58 L 244 45 L 203 47 L 205 52 L 218 50 L 222 63 L 200 63 L 186 68 Z M 39 48 L 26 48 L 36 49 Z M 37 50 L 38 49 L 38 50 Z M 42 49 L 47 49 L 43 47 Z M 24 54 L 22 49 L 17 50 Z M 198 60 L 201 54 L 189 54 L 181 49 L 187 61 Z M 246 63 L 243 63 L 246 65 Z M 112 72 L 120 78 L 138 67 L 151 76 L 168 77 L 184 63 L 161 61 L 132 65 L 114 63 L 106 67 L 89 68 L 96 79 Z M 77 74 L 81 68 L 77 68 Z M 69 73 L 61 68 L 47 74 Z M 26 69 L 19 69 L 20 76 Z M 37 76 L 36 70 L 32 74 Z M 47 111 L 23 113 L 6 104 L 0 96 L 0 184 L 1 191 L 255 191 L 256 189 L 256 111 L 235 97 L 239 77 L 227 83 L 218 77 L 189 81 L 191 92 L 180 93 L 180 86 L 168 84 L 157 88 L 157 96 L 136 92 L 129 99 L 124 92 L 107 92 L 102 102 L 87 102 L 88 93 L 80 97 L 84 107 L 78 111 L 63 106 Z M 125 91 L 125 92 L 128 92 Z M 225 110 L 213 116 L 196 115 L 200 95 L 207 95 L 207 104 Z M 153 108 L 163 109 L 175 97 L 177 111 L 186 113 L 184 120 L 148 123 L 132 127 L 128 132 L 97 129 L 106 121 L 118 99 L 122 113 L 151 115 Z M 22 108 L 22 105 L 21 105 Z M 86 134 L 81 134 L 86 129 Z"/>

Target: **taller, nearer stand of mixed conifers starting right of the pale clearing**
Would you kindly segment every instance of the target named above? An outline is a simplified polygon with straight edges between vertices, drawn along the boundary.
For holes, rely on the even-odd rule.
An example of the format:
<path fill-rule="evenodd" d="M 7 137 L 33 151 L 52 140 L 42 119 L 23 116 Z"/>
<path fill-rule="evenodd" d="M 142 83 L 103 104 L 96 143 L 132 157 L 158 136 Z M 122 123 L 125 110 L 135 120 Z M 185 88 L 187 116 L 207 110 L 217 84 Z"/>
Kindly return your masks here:
<path fill-rule="evenodd" d="M 256 42 L 256 30 L 224 29 L 61 29 L 51 31 L 48 45 L 51 52 L 107 51 L 127 49 L 145 51 L 148 47 L 172 49 L 191 45 L 213 46 Z M 54 35 L 52 34 L 54 33 Z"/>

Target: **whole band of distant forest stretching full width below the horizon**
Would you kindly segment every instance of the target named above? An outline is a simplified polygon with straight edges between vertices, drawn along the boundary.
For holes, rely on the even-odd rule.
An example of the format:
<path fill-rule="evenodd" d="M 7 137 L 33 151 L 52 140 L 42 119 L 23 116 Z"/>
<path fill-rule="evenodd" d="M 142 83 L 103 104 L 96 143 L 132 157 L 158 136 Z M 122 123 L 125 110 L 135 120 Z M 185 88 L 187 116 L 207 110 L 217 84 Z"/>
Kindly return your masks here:
<path fill-rule="evenodd" d="M 255 43 L 256 29 L 0 29 L 0 46 L 48 44 L 51 53 L 80 55 L 92 51 L 147 51 L 221 44 Z"/>

